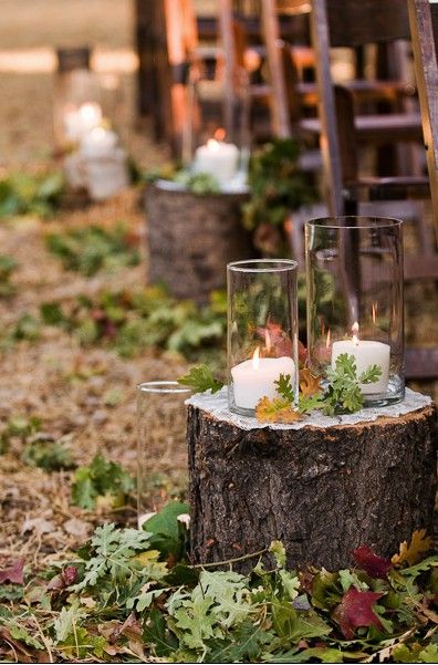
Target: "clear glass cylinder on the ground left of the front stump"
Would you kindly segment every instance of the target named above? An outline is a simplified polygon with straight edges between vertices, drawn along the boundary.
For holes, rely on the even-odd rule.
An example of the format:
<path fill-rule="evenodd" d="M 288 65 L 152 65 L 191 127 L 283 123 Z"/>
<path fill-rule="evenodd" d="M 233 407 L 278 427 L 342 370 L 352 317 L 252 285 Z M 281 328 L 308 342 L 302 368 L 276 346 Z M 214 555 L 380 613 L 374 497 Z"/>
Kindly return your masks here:
<path fill-rule="evenodd" d="M 187 491 L 185 401 L 190 388 L 175 381 L 137 386 L 138 526 Z"/>

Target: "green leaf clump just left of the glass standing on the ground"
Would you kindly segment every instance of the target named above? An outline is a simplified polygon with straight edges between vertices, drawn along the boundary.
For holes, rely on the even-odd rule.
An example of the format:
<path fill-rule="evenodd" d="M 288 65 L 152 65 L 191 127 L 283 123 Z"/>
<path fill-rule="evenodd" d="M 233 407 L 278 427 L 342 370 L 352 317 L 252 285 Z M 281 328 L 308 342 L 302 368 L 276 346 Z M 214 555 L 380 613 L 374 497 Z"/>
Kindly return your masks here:
<path fill-rule="evenodd" d="M 123 506 L 134 489 L 134 479 L 121 465 L 96 455 L 91 464 L 76 469 L 72 485 L 72 502 L 93 510 L 100 497 L 115 508 Z"/>

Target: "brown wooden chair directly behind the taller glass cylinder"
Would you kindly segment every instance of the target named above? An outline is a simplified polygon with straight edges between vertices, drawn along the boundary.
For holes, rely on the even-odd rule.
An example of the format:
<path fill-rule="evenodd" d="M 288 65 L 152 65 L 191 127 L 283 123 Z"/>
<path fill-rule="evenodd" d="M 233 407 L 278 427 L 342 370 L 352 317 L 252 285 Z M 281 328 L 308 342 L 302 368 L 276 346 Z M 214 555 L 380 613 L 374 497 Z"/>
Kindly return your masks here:
<path fill-rule="evenodd" d="M 410 37 L 404 0 L 312 0 L 312 43 L 316 58 L 319 120 L 306 121 L 310 133 L 320 133 L 324 163 L 325 199 L 334 215 L 369 191 L 377 196 L 379 186 L 390 189 L 386 178 L 379 183 L 362 178 L 357 167 L 357 145 L 413 142 L 421 139 L 419 113 L 356 115 L 352 91 L 335 87 L 331 72 L 332 48 L 357 48 L 368 43 L 388 44 Z M 342 120 L 338 122 L 338 118 Z M 397 180 L 403 187 L 423 187 L 418 178 Z"/>

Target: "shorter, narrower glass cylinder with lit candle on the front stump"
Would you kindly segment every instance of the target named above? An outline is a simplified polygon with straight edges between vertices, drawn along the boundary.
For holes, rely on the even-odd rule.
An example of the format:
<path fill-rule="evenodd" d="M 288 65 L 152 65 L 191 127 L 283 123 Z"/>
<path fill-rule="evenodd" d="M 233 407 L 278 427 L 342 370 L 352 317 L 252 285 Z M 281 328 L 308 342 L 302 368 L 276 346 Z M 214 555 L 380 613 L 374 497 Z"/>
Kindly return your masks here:
<path fill-rule="evenodd" d="M 262 397 L 278 397 L 281 374 L 298 397 L 298 263 L 254 259 L 227 266 L 228 403 L 254 416 Z"/>

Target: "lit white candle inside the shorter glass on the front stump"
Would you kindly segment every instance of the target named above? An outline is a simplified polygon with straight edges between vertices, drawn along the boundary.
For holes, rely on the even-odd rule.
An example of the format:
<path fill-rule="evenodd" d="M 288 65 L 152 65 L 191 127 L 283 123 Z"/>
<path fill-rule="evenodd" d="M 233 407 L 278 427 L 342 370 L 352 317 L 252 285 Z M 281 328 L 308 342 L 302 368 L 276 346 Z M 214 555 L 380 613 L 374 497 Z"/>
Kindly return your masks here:
<path fill-rule="evenodd" d="M 280 374 L 290 374 L 294 385 L 295 363 L 289 356 L 254 357 L 231 370 L 236 406 L 253 409 L 262 397 L 278 397 L 275 381 Z"/>

